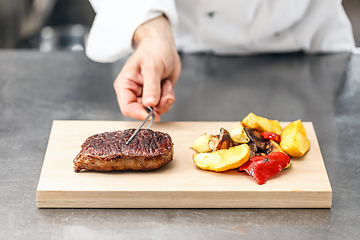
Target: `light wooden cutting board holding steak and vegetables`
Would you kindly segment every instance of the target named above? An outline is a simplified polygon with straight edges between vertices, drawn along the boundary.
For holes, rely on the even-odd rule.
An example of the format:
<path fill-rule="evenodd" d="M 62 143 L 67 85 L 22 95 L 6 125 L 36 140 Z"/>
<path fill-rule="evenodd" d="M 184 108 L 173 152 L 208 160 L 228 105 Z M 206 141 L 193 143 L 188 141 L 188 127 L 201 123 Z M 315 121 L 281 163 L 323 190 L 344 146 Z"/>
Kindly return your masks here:
<path fill-rule="evenodd" d="M 218 134 L 235 122 L 160 122 L 174 142 L 171 163 L 150 172 L 80 172 L 72 160 L 96 133 L 136 128 L 139 122 L 54 121 L 36 191 L 39 208 L 330 208 L 332 190 L 311 122 L 309 152 L 264 185 L 245 172 L 215 173 L 192 161 L 201 134 Z M 288 123 L 281 123 L 284 127 Z"/>

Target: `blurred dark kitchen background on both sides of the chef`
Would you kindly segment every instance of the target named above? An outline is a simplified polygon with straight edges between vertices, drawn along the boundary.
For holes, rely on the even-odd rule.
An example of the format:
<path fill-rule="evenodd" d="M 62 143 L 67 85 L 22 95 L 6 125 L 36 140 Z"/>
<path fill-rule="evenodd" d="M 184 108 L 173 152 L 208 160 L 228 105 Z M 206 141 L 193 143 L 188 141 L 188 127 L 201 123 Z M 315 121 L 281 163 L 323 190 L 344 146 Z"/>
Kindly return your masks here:
<path fill-rule="evenodd" d="M 343 0 L 360 47 L 360 0 Z M 0 0 L 0 48 L 82 51 L 95 13 L 88 0 Z"/>

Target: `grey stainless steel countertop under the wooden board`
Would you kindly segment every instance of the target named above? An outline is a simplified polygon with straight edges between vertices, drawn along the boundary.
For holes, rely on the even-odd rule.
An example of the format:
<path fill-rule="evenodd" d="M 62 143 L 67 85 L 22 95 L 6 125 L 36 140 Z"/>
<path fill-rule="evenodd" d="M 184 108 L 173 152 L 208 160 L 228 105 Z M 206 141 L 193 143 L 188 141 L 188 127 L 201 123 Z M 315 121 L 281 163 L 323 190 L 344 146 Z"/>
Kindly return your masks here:
<path fill-rule="evenodd" d="M 356 239 L 360 235 L 360 55 L 182 55 L 162 121 L 312 121 L 331 209 L 37 209 L 53 120 L 129 120 L 112 82 L 124 61 L 0 50 L 0 239 Z"/>

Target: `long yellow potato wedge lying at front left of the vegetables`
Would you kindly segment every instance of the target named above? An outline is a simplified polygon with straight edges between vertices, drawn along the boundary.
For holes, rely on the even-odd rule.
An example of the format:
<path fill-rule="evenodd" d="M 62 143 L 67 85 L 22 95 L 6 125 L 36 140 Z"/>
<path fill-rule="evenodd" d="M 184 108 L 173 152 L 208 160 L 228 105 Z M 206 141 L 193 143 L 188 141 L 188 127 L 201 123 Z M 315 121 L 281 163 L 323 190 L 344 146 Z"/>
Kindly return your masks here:
<path fill-rule="evenodd" d="M 241 144 L 229 149 L 213 151 L 211 153 L 198 153 L 193 155 L 193 161 L 201 169 L 224 172 L 235 169 L 249 160 L 250 147 Z"/>

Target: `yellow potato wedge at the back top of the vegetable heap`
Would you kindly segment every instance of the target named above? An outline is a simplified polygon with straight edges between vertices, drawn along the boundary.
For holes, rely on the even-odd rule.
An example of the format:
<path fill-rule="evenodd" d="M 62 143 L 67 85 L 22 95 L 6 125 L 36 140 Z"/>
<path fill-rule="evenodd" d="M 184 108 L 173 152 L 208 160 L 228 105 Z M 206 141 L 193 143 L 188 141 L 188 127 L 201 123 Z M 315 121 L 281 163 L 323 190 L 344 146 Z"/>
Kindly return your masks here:
<path fill-rule="evenodd" d="M 255 128 L 260 132 L 272 132 L 279 135 L 282 133 L 279 121 L 256 116 L 254 113 L 249 113 L 242 120 L 242 124 L 244 127 Z"/>

